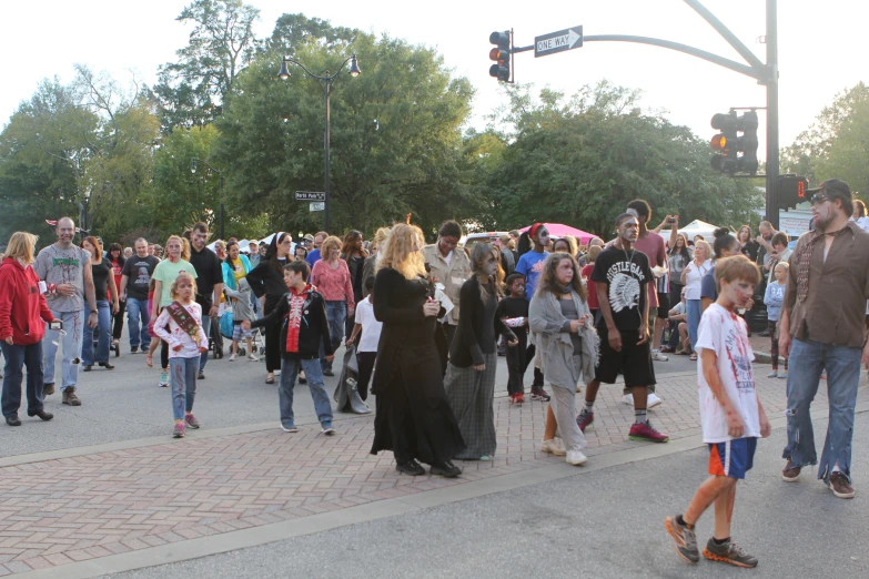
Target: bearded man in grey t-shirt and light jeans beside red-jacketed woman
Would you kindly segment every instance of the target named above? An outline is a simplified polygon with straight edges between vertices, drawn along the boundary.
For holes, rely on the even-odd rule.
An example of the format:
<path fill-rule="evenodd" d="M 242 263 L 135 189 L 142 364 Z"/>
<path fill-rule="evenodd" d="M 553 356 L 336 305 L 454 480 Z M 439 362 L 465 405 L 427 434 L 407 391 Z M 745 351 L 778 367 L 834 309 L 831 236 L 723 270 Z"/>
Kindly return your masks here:
<path fill-rule="evenodd" d="M 61 363 L 61 390 L 63 404 L 81 406 L 75 386 L 81 366 L 81 345 L 84 324 L 97 327 L 97 295 L 93 287 L 91 254 L 72 244 L 75 223 L 61 217 L 55 226 L 58 241 L 39 252 L 33 271 L 46 282 L 46 302 L 55 319 L 63 323 L 62 331 L 47 329 L 42 338 L 46 353 L 43 396 L 54 394 L 54 357 L 59 342 L 63 345 Z M 84 302 L 88 302 L 88 313 Z M 61 333 L 62 332 L 62 333 Z M 62 337 L 62 339 L 61 339 Z"/>

